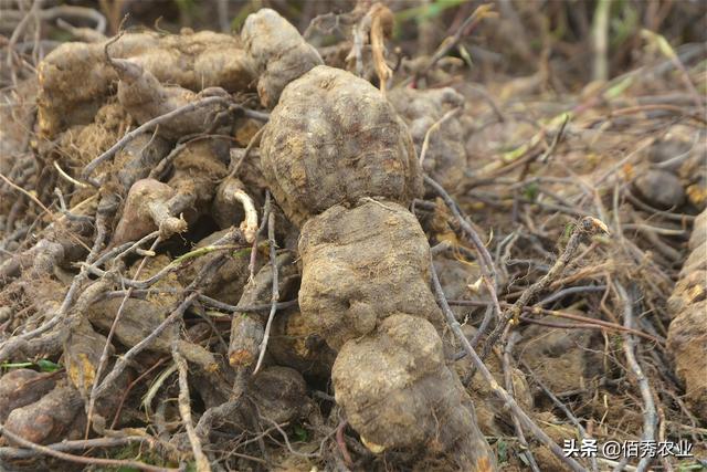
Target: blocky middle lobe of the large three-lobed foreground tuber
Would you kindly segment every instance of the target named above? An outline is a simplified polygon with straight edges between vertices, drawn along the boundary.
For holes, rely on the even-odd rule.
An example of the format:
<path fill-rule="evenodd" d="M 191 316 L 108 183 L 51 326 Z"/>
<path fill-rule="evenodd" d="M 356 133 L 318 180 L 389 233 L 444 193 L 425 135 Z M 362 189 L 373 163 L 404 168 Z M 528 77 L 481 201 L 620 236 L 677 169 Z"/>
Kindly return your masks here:
<path fill-rule="evenodd" d="M 305 323 L 334 349 L 394 313 L 440 325 L 429 289 L 428 240 L 414 216 L 397 203 L 331 207 L 303 225 L 299 255 Z"/>

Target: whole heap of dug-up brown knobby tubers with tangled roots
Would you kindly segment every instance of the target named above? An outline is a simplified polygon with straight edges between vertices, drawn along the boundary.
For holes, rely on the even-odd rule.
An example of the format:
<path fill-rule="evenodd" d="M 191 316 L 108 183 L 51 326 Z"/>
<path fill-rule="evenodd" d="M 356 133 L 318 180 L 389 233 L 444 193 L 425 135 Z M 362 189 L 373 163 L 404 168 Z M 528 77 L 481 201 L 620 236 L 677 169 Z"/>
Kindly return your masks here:
<path fill-rule="evenodd" d="M 77 77 L 82 86 L 75 86 Z M 245 102 L 233 101 L 250 94 L 253 105 L 254 90 L 270 116 L 247 114 Z M 408 209 L 423 191 L 420 130 L 432 124 L 425 111 L 462 101 L 451 90 L 415 92 L 412 102 L 411 93 L 390 91 L 389 102 L 370 82 L 324 65 L 317 50 L 270 9 L 246 19 L 240 40 L 129 32 L 49 54 L 39 67 L 36 126 L 54 144 L 40 144 L 38 151 L 71 176 L 57 185 L 71 196 L 75 218 L 67 224 L 78 244 L 57 242 L 66 228 L 56 224 L 38 243 L 51 247 L 51 256 L 36 261 L 36 250 L 19 253 L 0 266 L 2 286 L 27 297 L 42 279 L 71 280 L 71 264 L 84 261 L 93 242 L 82 218 L 106 230 L 99 254 L 135 251 L 145 238 L 157 242 L 140 252 L 147 264 L 125 255 L 83 262 L 74 279 L 78 295 L 66 295 L 75 296 L 72 308 L 62 307 L 64 294 L 43 297 L 45 313 L 39 302 L 32 305 L 38 325 L 56 316 L 61 329 L 4 345 L 0 360 L 53 357 L 66 373 L 7 374 L 0 422 L 38 443 L 81 438 L 92 421 L 94 431 L 114 417 L 114 426 L 129 424 L 135 418 L 119 415 L 122 391 L 145 373 L 140 364 L 171 355 L 193 367 L 192 389 L 207 410 L 197 427 L 202 441 L 243 375 L 251 376 L 251 402 L 230 410 L 242 430 L 253 420 L 250 405 L 277 423 L 306 416 L 305 378 L 330 378 L 336 403 L 369 453 L 424 458 L 441 469 L 494 470 L 474 406 L 447 360 L 444 318 L 430 289 L 430 247 Z M 451 124 L 451 135 L 439 143 L 460 138 L 458 123 Z M 239 169 L 232 141 L 256 139 L 258 150 Z M 424 168 L 454 186 L 446 168 L 465 164 L 463 146 L 439 146 L 432 143 Z M 258 229 L 253 218 L 265 208 L 266 190 L 277 204 L 267 207 L 276 235 L 285 241 L 273 265 L 258 258 L 267 253 L 258 241 L 267 221 Z M 180 266 L 170 255 L 187 251 L 180 249 L 184 240 L 204 254 Z M 235 251 L 219 252 L 219 245 Z M 277 315 L 265 368 L 257 371 L 271 327 L 264 313 L 245 306 L 273 302 L 275 276 L 279 300 L 297 298 L 298 308 Z M 196 283 L 201 298 L 190 289 Z M 129 297 L 133 291 L 145 293 Z M 226 343 L 208 335 L 209 323 L 187 327 L 175 317 L 181 291 L 193 295 L 191 310 L 204 318 L 209 303 L 235 305 Z M 172 318 L 183 329 L 166 328 Z M 120 367 L 116 354 L 138 347 L 133 364 Z M 114 388 L 96 389 L 106 377 Z M 31 395 L 18 395 L 31 386 Z M 159 415 L 169 415 L 160 408 Z"/>

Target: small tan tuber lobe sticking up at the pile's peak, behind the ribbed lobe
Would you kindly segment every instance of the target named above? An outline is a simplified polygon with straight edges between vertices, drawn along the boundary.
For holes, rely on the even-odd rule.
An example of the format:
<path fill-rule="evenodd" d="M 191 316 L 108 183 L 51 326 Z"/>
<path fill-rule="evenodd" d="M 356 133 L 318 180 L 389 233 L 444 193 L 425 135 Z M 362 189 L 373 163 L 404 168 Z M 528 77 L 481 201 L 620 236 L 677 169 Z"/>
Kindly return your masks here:
<path fill-rule="evenodd" d="M 257 94 L 266 108 L 277 105 L 288 83 L 324 64 L 297 29 L 270 8 L 246 18 L 241 41 L 257 71 Z"/>

